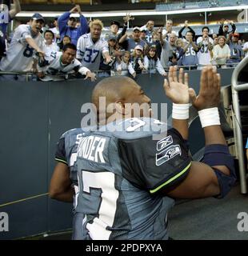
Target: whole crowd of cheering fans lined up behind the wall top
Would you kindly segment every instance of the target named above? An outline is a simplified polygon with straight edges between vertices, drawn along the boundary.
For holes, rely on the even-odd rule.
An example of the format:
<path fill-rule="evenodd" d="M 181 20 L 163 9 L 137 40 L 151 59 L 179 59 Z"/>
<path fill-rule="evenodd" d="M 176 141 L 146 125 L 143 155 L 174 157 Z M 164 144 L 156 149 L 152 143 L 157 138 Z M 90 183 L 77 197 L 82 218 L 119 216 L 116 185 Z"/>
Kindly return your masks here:
<path fill-rule="evenodd" d="M 79 20 L 71 14 L 79 14 Z M 87 22 L 78 5 L 55 18 L 53 28 L 45 26 L 41 14 L 34 14 L 28 24 L 14 30 L 6 50 L 4 44 L 0 45 L 0 79 L 22 79 L 22 75 L 3 72 L 32 72 L 42 81 L 82 76 L 94 81 L 96 77 L 115 74 L 132 78 L 147 73 L 166 76 L 169 66 L 193 70 L 212 64 L 226 68 L 248 53 L 248 42 L 240 40 L 234 22 L 229 22 L 230 30 L 222 20 L 218 34 L 212 35 L 204 26 L 197 38 L 187 21 L 177 34 L 171 20 L 167 20 L 165 28 L 158 29 L 150 20 L 145 26 L 134 26 L 132 34 L 127 34 L 127 24 L 132 19 L 126 15 L 120 33 L 120 23 L 112 21 L 110 31 L 102 34 L 102 22 Z M 2 38 L 6 42 L 4 34 Z"/>

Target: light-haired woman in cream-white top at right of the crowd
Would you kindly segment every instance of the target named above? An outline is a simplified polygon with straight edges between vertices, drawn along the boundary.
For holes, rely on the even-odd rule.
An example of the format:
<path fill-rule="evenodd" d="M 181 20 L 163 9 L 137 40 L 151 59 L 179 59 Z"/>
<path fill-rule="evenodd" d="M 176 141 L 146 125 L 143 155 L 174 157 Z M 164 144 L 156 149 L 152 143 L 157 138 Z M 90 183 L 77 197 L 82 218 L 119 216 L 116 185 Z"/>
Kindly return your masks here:
<path fill-rule="evenodd" d="M 218 45 L 214 46 L 213 59 L 217 64 L 217 67 L 226 67 L 226 60 L 230 58 L 230 48 L 226 44 L 226 38 L 224 36 L 218 37 Z"/>

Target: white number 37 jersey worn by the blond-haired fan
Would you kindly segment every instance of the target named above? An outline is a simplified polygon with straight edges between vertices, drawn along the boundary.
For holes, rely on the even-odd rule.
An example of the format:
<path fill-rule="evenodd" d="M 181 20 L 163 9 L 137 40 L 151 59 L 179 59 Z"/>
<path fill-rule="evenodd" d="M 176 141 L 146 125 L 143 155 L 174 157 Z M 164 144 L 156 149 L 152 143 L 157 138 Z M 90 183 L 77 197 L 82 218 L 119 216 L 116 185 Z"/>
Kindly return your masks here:
<path fill-rule="evenodd" d="M 91 71 L 99 70 L 101 54 L 109 52 L 108 43 L 104 38 L 93 42 L 91 34 L 83 34 L 78 38 L 77 58 Z"/>

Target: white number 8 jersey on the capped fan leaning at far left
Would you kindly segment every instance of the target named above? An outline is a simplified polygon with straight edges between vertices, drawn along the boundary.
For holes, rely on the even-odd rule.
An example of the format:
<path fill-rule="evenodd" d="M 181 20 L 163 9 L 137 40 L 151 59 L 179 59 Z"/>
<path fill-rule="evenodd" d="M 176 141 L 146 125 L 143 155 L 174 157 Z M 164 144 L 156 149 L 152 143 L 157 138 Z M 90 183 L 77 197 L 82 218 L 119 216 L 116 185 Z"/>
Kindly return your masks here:
<path fill-rule="evenodd" d="M 26 42 L 26 38 L 33 38 L 37 46 L 41 50 L 45 50 L 42 34 L 39 33 L 34 37 L 29 25 L 20 25 L 14 31 L 10 46 L 6 51 L 6 57 L 2 58 L 0 62 L 0 70 L 26 72 L 32 69 L 35 50 Z"/>

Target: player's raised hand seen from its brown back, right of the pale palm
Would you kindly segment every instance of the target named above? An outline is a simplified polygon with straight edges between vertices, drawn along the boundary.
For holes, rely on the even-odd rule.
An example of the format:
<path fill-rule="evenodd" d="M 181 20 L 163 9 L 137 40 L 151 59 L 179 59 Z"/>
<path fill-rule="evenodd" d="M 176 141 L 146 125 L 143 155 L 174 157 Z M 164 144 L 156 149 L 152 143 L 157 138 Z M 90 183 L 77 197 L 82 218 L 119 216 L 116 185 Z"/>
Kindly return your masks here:
<path fill-rule="evenodd" d="M 205 66 L 202 70 L 200 91 L 198 96 L 194 89 L 189 89 L 190 99 L 197 110 L 216 107 L 220 101 L 221 76 L 216 67 Z"/>

